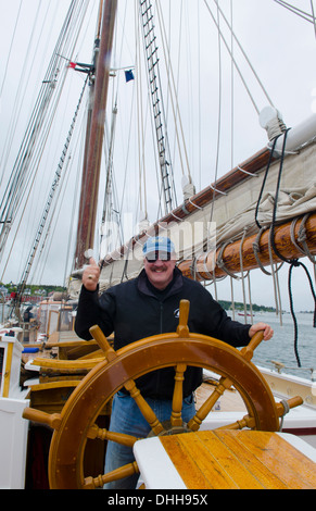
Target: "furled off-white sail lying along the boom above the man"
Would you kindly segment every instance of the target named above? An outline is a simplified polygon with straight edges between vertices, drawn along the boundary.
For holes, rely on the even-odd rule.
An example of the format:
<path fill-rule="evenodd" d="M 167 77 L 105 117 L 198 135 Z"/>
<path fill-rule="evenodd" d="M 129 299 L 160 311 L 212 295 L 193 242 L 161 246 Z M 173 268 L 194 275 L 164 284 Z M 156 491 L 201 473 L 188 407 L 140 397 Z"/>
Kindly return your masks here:
<path fill-rule="evenodd" d="M 286 147 L 276 222 L 282 223 L 316 210 L 316 182 L 314 163 L 316 159 L 316 115 L 306 121 L 307 130 L 300 125 L 294 128 Z M 295 136 L 298 134 L 298 136 Z M 302 138 L 304 134 L 304 138 Z M 290 148 L 290 149 L 288 149 Z M 134 278 L 142 267 L 142 246 L 148 236 L 169 236 L 176 246 L 179 261 L 193 260 L 202 252 L 214 250 L 228 241 L 241 239 L 258 232 L 255 210 L 266 166 L 256 172 L 245 173 L 240 184 L 226 192 L 210 194 L 205 205 L 197 203 L 195 196 L 189 199 L 193 211 L 184 217 L 173 212 L 168 219 L 149 226 L 127 244 L 104 259 L 100 290 Z M 267 174 L 264 194 L 261 198 L 257 221 L 263 227 L 270 225 L 275 204 L 276 187 L 280 169 L 277 158 Z M 243 171 L 242 166 L 239 171 Z M 216 183 L 212 185 L 216 190 Z M 186 210 L 186 203 L 182 204 Z M 73 275 L 69 289 L 77 296 L 80 288 L 80 272 Z"/>

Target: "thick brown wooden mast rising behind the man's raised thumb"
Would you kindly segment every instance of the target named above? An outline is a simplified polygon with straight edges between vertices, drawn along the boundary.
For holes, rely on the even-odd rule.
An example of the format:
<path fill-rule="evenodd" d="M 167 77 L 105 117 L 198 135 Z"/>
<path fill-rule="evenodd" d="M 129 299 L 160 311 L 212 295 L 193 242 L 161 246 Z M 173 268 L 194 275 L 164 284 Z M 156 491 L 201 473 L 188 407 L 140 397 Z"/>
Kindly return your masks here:
<path fill-rule="evenodd" d="M 96 84 L 92 90 L 92 111 L 87 127 L 86 155 L 84 162 L 81 195 L 77 242 L 75 252 L 75 269 L 85 263 L 85 251 L 93 247 L 94 226 L 98 204 L 101 152 L 104 134 L 104 117 L 109 89 L 110 62 L 113 43 L 113 30 L 117 0 L 105 0 L 102 16 L 100 52 L 97 63 Z"/>

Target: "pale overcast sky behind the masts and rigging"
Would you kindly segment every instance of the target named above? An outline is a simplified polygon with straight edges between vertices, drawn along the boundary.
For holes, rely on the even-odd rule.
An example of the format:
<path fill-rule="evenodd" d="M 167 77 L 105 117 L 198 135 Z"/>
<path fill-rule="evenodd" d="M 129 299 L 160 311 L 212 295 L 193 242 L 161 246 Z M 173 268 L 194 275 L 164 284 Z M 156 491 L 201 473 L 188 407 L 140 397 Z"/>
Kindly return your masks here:
<path fill-rule="evenodd" d="M 12 162 L 14 162 L 14 154 L 21 144 L 21 136 L 22 132 L 25 128 L 25 123 L 29 116 L 31 111 L 31 105 L 34 104 L 36 98 L 36 84 L 39 84 L 43 77 L 47 63 L 49 61 L 49 57 L 51 53 L 51 49 L 53 47 L 53 40 L 55 39 L 56 35 L 59 34 L 62 20 L 67 11 L 69 5 L 69 1 L 66 0 L 54 0 L 51 2 L 50 0 L 11 0 L 10 2 L 5 2 L 4 0 L 0 0 L 2 3 L 2 15 L 0 20 L 0 87 L 1 87 L 1 140 L 0 140 L 0 150 L 2 154 L 2 163 L 3 163 L 3 154 L 4 150 L 8 147 L 8 129 L 10 126 L 10 122 L 12 119 L 12 112 L 16 108 L 16 98 L 21 98 L 21 90 L 18 91 L 18 83 L 21 77 L 23 78 L 23 91 L 25 96 L 20 103 L 18 108 L 21 109 L 20 120 L 17 126 L 15 126 L 14 136 L 12 137 L 11 141 L 11 150 L 8 161 L 5 159 L 4 169 L 1 167 L 1 174 L 4 172 L 3 180 L 1 184 L 1 196 L 4 191 L 5 185 L 5 176 L 8 176 L 8 171 L 12 167 Z M 92 20 L 92 16 L 96 14 L 96 9 L 92 9 L 93 5 L 96 8 L 97 2 L 90 2 L 88 11 L 87 11 L 87 18 Z M 118 13 L 118 29 L 122 29 L 125 26 L 126 32 L 126 40 L 124 42 L 124 48 L 122 52 L 116 50 L 114 52 L 114 62 L 113 65 L 116 67 L 119 66 L 134 66 L 135 64 L 135 51 L 131 50 L 131 46 L 129 46 L 128 40 L 128 33 L 129 28 L 134 26 L 134 14 L 130 11 L 132 7 L 132 0 L 128 0 L 127 7 L 128 10 L 125 12 L 125 1 L 118 0 L 119 5 L 119 13 Z M 306 11 L 311 13 L 312 5 L 309 0 L 298 0 L 290 2 L 291 4 L 302 9 L 302 11 Z M 123 11 L 121 11 L 123 4 Z M 161 4 L 165 12 L 167 13 L 169 10 L 169 0 L 162 0 Z M 211 0 L 208 1 L 210 7 L 212 7 L 214 11 L 214 2 Z M 230 16 L 230 0 L 226 0 L 219 2 L 220 7 L 225 11 L 227 17 Z M 20 17 L 17 18 L 17 13 L 21 7 Z M 233 28 L 236 35 L 238 36 L 241 45 L 243 46 L 244 50 L 247 51 L 252 65 L 256 70 L 258 76 L 261 77 L 268 95 L 270 96 L 275 107 L 279 109 L 283 115 L 285 122 L 288 126 L 295 126 L 296 124 L 307 119 L 313 111 L 315 112 L 315 104 L 316 104 L 316 39 L 315 39 L 315 30 L 312 23 L 307 23 L 302 17 L 294 15 L 292 12 L 286 10 L 280 4 L 273 0 L 232 0 L 233 7 Z M 39 9 L 40 8 L 40 9 Z M 218 45 L 217 45 L 217 35 L 214 30 L 213 39 L 206 39 L 204 35 L 202 35 L 202 28 L 210 26 L 208 35 L 211 37 L 211 16 L 207 14 L 207 9 L 203 1 L 198 0 L 172 0 L 172 8 L 173 10 L 177 11 L 178 20 L 180 18 L 179 13 L 182 13 L 182 25 L 181 25 L 181 34 L 184 37 L 186 34 L 191 39 L 188 42 L 188 46 L 182 48 L 181 50 L 181 60 L 179 64 L 181 66 L 186 65 L 187 57 L 190 55 L 191 59 L 191 71 L 189 70 L 189 74 L 191 75 L 191 83 L 185 83 L 179 80 L 179 101 L 186 102 L 187 98 L 187 88 L 191 87 L 193 91 L 195 90 L 195 79 L 198 76 L 198 67 L 197 67 L 197 58 L 194 57 L 194 51 L 197 50 L 195 47 L 200 45 L 202 49 L 202 53 L 204 54 L 205 59 L 207 60 L 207 65 L 211 64 L 211 61 L 214 59 L 214 64 L 216 67 L 216 73 L 218 72 Z M 181 10 L 182 9 L 182 10 Z M 36 14 L 38 13 L 39 18 L 42 20 L 39 26 L 42 26 L 41 36 L 43 37 L 42 48 L 41 51 L 37 53 L 37 60 L 31 61 L 27 59 L 29 57 L 29 52 L 34 51 L 34 48 L 39 45 L 39 28 L 37 32 L 33 33 L 33 39 L 30 39 L 31 28 L 34 26 L 34 22 L 36 18 Z M 45 17 L 47 16 L 47 17 Z M 189 20 L 189 22 L 188 22 Z M 15 26 L 17 21 L 17 25 Z M 207 23 L 207 25 L 206 25 Z M 125 24 L 125 25 L 124 25 Z M 198 25 L 199 24 L 199 25 Z M 204 26 L 205 25 L 205 26 Z M 170 25 L 172 26 L 172 25 Z M 197 36 L 197 26 L 201 29 L 201 37 L 198 38 Z M 127 27 L 127 28 L 126 28 Z M 129 27 L 129 28 L 128 28 Z M 222 28 L 225 32 L 225 23 L 222 20 Z M 167 25 L 168 29 L 168 25 Z M 214 23 L 213 23 L 214 29 Z M 85 28 L 85 37 L 80 38 L 79 46 L 76 50 L 75 58 L 78 61 L 89 62 L 91 59 L 92 53 L 92 42 L 93 39 L 93 30 L 94 30 L 94 22 L 91 24 L 90 29 L 88 29 L 88 25 Z M 227 30 L 226 30 L 227 32 Z M 177 47 L 177 41 L 179 40 L 179 26 L 175 29 L 175 32 L 170 32 L 173 38 L 173 48 Z M 13 38 L 14 35 L 14 38 Z M 198 42 L 199 40 L 199 42 Z M 30 45 L 30 50 L 28 50 L 28 45 Z M 237 52 L 237 46 L 236 52 Z M 162 49 L 160 49 L 162 52 Z M 223 57 L 223 76 L 229 75 L 230 67 L 227 63 L 226 50 L 222 42 L 222 57 Z M 10 55 L 10 60 L 8 60 Z M 186 59 L 185 59 L 186 57 Z M 205 61 L 206 62 L 206 61 Z M 27 63 L 27 68 L 24 67 L 24 63 Z M 180 66 L 179 65 L 179 66 Z M 267 100 L 258 90 L 257 85 L 253 77 L 251 77 L 249 71 L 247 71 L 247 66 L 243 66 L 244 73 L 247 77 L 250 78 L 251 88 L 254 91 L 255 101 L 257 103 L 258 109 L 261 110 L 267 104 Z M 210 68 L 206 67 L 204 64 L 204 60 L 201 59 L 201 66 L 202 71 L 205 71 L 205 75 L 202 74 L 201 70 L 201 78 L 199 82 L 199 87 L 201 90 L 201 99 L 202 109 L 205 111 L 205 119 L 203 120 L 202 124 L 202 132 L 201 132 L 201 145 L 202 145 L 202 157 L 200 158 L 198 154 L 198 144 L 195 141 L 198 128 L 192 129 L 192 133 L 188 130 L 188 138 L 191 137 L 191 146 L 193 149 L 190 149 L 189 152 L 189 161 L 190 165 L 192 166 L 192 176 L 194 183 L 199 187 L 203 188 L 207 184 L 214 180 L 214 174 L 212 172 L 215 167 L 216 161 L 216 137 L 217 137 L 217 110 L 213 107 L 210 112 L 207 112 L 208 104 L 217 104 L 218 103 L 218 78 L 216 77 L 217 74 L 214 75 L 211 73 L 211 65 Z M 31 70 L 31 73 L 30 73 Z M 71 75 L 71 74 L 69 74 Z M 180 75 L 179 75 L 180 76 Z M 73 115 L 74 108 L 77 103 L 78 92 L 83 87 L 83 76 L 78 76 L 78 74 L 73 73 L 66 86 L 66 95 L 67 101 L 71 102 L 71 114 Z M 237 165 L 248 159 L 250 155 L 254 154 L 257 150 L 262 149 L 267 144 L 267 137 L 265 132 L 260 127 L 257 114 L 249 100 L 248 95 L 241 91 L 241 86 L 239 84 L 239 78 L 237 74 L 235 75 L 236 87 L 239 92 L 236 94 L 236 128 L 237 134 L 235 136 L 235 146 L 233 146 L 233 165 Z M 124 89 L 126 92 L 125 101 L 130 101 L 132 94 L 132 85 L 127 85 L 122 79 L 121 90 Z M 227 90 L 225 89 L 227 87 Z M 227 91 L 227 97 L 229 95 L 229 87 L 228 85 L 224 85 L 224 90 Z M 17 96 L 18 95 L 18 96 Z M 194 96 L 192 94 L 192 96 Z M 227 100 L 227 104 L 228 104 Z M 225 100 L 223 101 L 224 109 L 226 108 Z M 125 103 L 122 103 L 122 109 L 125 109 Z M 190 103 L 190 99 L 187 100 L 187 107 L 189 109 L 193 109 Z M 169 107 L 170 108 L 170 107 Z M 185 129 L 186 125 L 190 124 L 191 117 L 188 114 L 184 116 L 184 124 Z M 213 123 L 214 121 L 214 123 Z M 129 124 L 129 117 L 123 117 L 122 125 L 125 123 L 126 125 Z M 195 121 L 194 121 L 195 122 Z M 214 125 L 213 125 L 214 124 Z M 206 126 L 210 125 L 211 132 L 206 130 Z M 66 126 L 68 126 L 66 124 Z M 58 144 L 58 149 L 55 149 L 53 157 L 47 155 L 46 162 L 43 162 L 43 169 L 40 170 L 42 176 L 45 178 L 45 170 L 48 166 L 48 162 L 51 163 L 53 161 L 53 169 L 56 167 L 56 163 L 59 162 L 61 148 L 63 147 L 67 129 L 68 127 L 63 129 L 63 133 L 59 132 L 59 128 L 54 127 L 54 137 L 60 135 L 60 141 Z M 227 129 L 227 134 L 229 134 L 228 128 L 223 121 L 222 130 Z M 61 129 L 60 129 L 61 130 Z M 210 135 L 211 133 L 211 135 Z M 77 135 L 79 137 L 79 135 Z M 218 165 L 218 175 L 224 175 L 231 169 L 231 151 L 230 151 L 230 135 L 227 136 L 229 138 L 229 142 L 227 145 L 223 145 L 220 148 L 220 158 L 219 158 L 219 165 Z M 121 144 L 121 142 L 119 142 Z M 122 142 L 123 144 L 123 142 Z M 131 141 L 132 144 L 132 141 Z M 199 142 L 200 144 L 200 142 Z M 206 148 L 206 150 L 205 150 Z M 210 149 L 207 149 L 210 148 Z M 122 149 L 122 152 L 125 149 Z M 129 158 L 129 164 L 135 165 L 135 160 Z M 198 165 L 198 161 L 201 163 Z M 117 164 L 118 165 L 118 164 Z M 126 165 L 126 163 L 125 163 Z M 200 174 L 200 165 L 202 166 L 202 173 Z M 122 165 L 123 166 L 123 165 Z M 177 165 L 176 165 L 177 166 Z M 208 169 L 207 169 L 208 167 Z M 204 170 L 206 169 L 206 173 Z M 9 171 L 10 172 L 10 171 Z M 123 173 L 123 169 L 121 169 Z M 53 174 L 51 174 L 53 175 Z M 132 178 L 135 180 L 135 177 Z M 69 186 L 71 189 L 75 190 L 77 178 L 69 176 Z M 51 183 L 51 177 L 49 179 Z M 118 188 L 119 188 L 118 182 Z M 128 186 L 134 186 L 134 183 L 130 183 Z M 148 186 L 149 191 L 155 195 L 153 187 L 150 185 Z M 48 188 L 46 188 L 48 190 Z M 40 197 L 38 203 L 34 204 L 34 209 L 38 209 L 41 211 L 42 208 L 42 200 L 45 203 L 45 198 L 47 197 L 46 192 L 40 192 Z M 153 202 L 153 201 L 152 201 Z M 126 199 L 126 207 L 128 208 L 128 202 Z M 67 204 L 69 207 L 69 203 Z M 156 207 L 155 210 L 156 211 Z M 151 221 L 155 221 L 154 212 L 150 211 L 152 217 Z M 30 216 L 29 216 L 30 219 Z M 34 225 L 34 221 L 29 220 L 28 227 Z M 35 224 L 36 225 L 36 224 Z M 27 230 L 24 228 L 24 235 Z M 74 230 L 74 229 L 73 229 Z M 48 276 L 43 276 L 43 281 L 46 283 L 62 283 L 64 276 L 64 267 L 65 267 L 65 258 L 67 257 L 67 249 L 66 249 L 66 240 L 73 236 L 73 230 L 68 227 L 68 222 L 63 222 L 63 235 L 59 236 L 59 244 L 58 244 L 58 252 L 54 253 L 53 261 L 50 262 L 51 272 Z M 65 242 L 61 242 L 64 239 Z M 21 261 L 25 260 L 26 252 L 29 249 L 26 248 L 25 237 L 21 237 L 20 240 L 16 241 L 16 246 L 14 249 L 15 254 L 15 263 L 14 266 L 9 266 L 5 272 L 4 282 L 13 281 L 17 282 L 18 276 L 23 271 L 23 265 Z M 60 264 L 56 261 L 61 258 Z M 2 263 L 3 264 L 3 263 Z M 3 267 L 2 267 L 3 270 Z M 286 269 L 283 272 L 285 278 L 287 275 L 288 270 Z M 2 273 L 2 272 L 1 272 Z M 271 298 L 271 284 L 270 282 L 267 284 L 266 277 L 262 276 L 256 272 L 254 277 L 252 277 L 253 285 L 253 301 L 256 303 L 263 304 L 274 304 Z M 219 287 L 219 298 L 229 299 L 228 295 L 228 283 L 220 285 Z M 286 287 L 286 286 L 285 286 Z M 313 309 L 313 300 L 308 290 L 307 282 L 305 277 L 302 277 L 300 274 L 300 270 L 296 272 L 294 276 L 294 284 L 293 287 L 295 289 L 295 300 L 296 300 L 296 308 L 298 309 Z M 223 289 L 223 290 L 222 290 Z M 241 297 L 241 290 L 237 292 L 237 299 Z M 285 308 L 288 309 L 288 298 L 287 292 L 285 294 Z"/>

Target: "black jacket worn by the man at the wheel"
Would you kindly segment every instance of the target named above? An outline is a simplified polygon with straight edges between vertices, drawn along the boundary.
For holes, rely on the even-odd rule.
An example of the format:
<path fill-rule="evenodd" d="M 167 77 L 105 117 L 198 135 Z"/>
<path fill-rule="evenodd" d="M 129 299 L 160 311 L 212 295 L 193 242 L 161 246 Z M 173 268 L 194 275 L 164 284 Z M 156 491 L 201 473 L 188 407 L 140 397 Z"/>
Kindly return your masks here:
<path fill-rule="evenodd" d="M 164 291 L 149 282 L 144 270 L 140 275 L 108 289 L 98 298 L 98 290 L 81 288 L 75 331 L 83 339 L 91 339 L 89 328 L 96 324 L 105 336 L 114 332 L 114 349 L 156 334 L 176 332 L 181 299 L 190 300 L 189 331 L 220 339 L 230 346 L 247 346 L 250 325 L 232 321 L 212 295 L 199 283 L 184 277 L 175 269 L 174 279 Z M 144 397 L 170 399 L 174 390 L 173 367 L 154 371 L 137 379 Z M 184 396 L 189 396 L 202 382 L 202 370 L 188 367 Z"/>

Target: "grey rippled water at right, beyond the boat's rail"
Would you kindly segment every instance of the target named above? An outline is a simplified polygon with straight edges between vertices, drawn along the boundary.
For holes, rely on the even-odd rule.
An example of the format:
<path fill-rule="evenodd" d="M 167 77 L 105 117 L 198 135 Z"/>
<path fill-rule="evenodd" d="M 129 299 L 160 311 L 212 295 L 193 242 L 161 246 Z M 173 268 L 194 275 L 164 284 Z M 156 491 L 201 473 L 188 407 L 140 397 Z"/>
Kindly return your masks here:
<path fill-rule="evenodd" d="M 298 322 L 298 350 L 302 369 L 298 369 L 294 352 L 294 324 L 291 314 L 282 314 L 282 326 L 280 319 L 274 313 L 256 313 L 253 322 L 268 323 L 275 331 L 271 340 L 262 341 L 256 348 L 253 362 L 256 365 L 273 369 L 271 360 L 286 365 L 285 372 L 295 376 L 311 379 L 309 369 L 316 372 L 316 328 L 313 327 L 313 313 L 295 314 Z M 237 316 L 238 317 L 238 316 Z M 242 320 L 238 317 L 238 320 Z M 304 369 L 303 369 L 304 367 Z"/>

